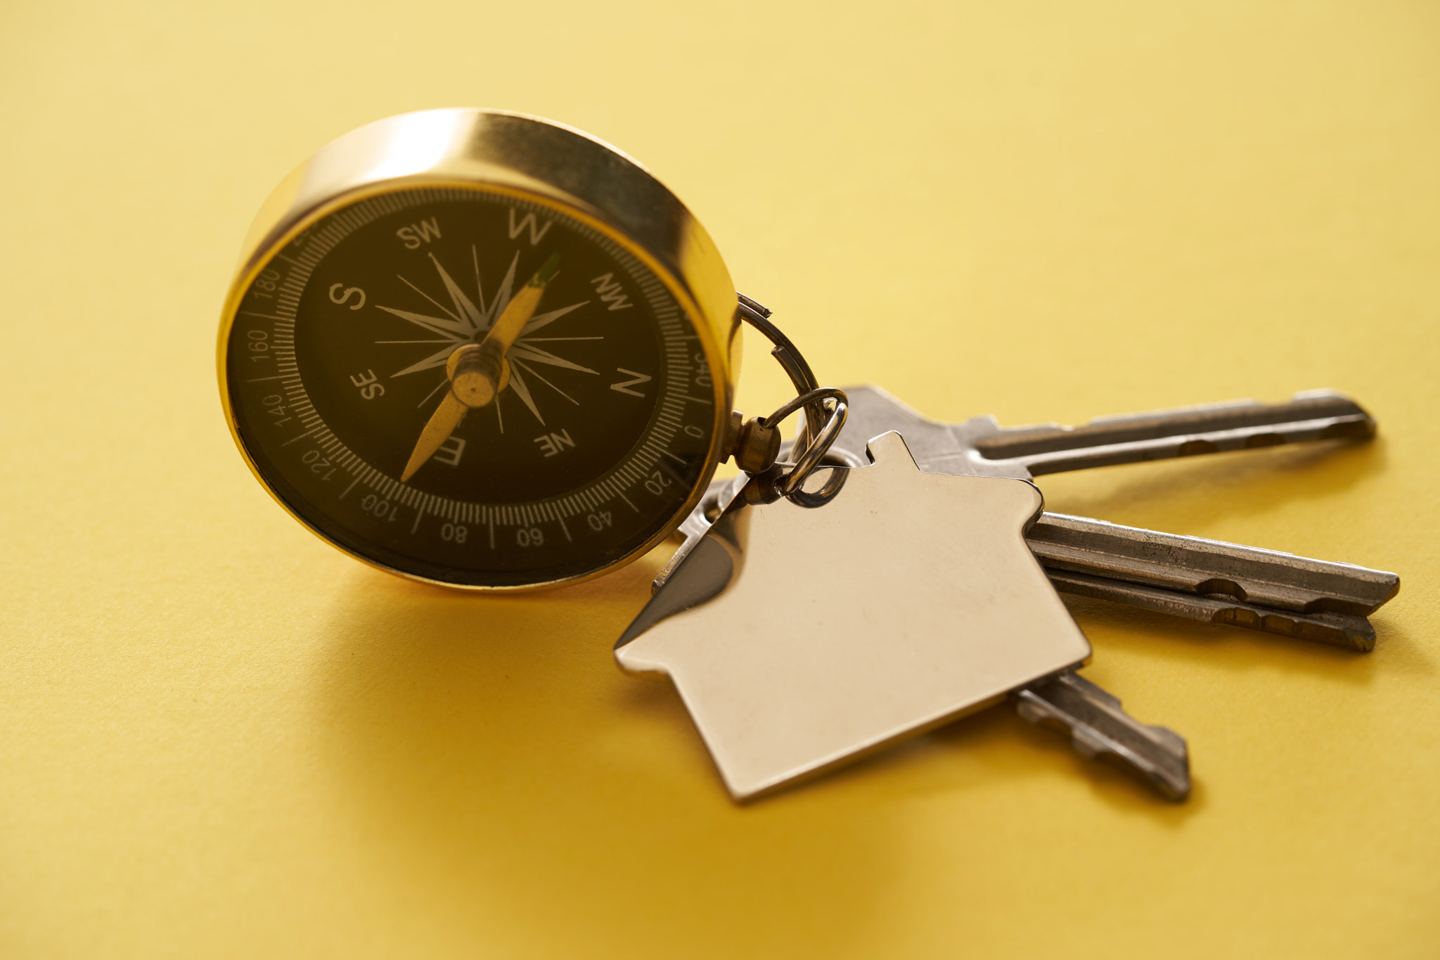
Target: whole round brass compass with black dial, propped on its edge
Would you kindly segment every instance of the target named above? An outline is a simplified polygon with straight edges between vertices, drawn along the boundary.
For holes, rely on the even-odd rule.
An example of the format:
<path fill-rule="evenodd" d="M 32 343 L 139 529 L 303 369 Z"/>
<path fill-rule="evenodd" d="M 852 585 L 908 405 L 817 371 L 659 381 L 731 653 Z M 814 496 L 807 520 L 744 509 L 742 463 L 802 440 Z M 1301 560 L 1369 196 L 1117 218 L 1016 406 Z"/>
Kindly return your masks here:
<path fill-rule="evenodd" d="M 456 587 L 557 586 L 698 502 L 734 442 L 736 302 L 704 229 L 613 147 L 518 114 L 406 114 L 262 207 L 220 394 L 261 484 L 340 550 Z"/>

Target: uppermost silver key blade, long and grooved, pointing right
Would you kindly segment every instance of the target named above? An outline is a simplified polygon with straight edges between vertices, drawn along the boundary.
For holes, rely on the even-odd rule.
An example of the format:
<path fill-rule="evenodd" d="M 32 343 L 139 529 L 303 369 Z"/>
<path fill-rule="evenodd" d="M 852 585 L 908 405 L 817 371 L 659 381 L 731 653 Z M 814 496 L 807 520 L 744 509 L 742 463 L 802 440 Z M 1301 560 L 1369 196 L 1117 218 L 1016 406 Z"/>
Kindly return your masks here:
<path fill-rule="evenodd" d="M 1001 429 L 975 419 L 956 427 L 982 463 L 1009 463 L 1031 476 L 1090 466 L 1246 450 L 1302 440 L 1375 436 L 1375 420 L 1333 390 L 1296 393 L 1287 403 L 1236 400 L 1097 417 L 1084 426 L 1047 423 Z"/>

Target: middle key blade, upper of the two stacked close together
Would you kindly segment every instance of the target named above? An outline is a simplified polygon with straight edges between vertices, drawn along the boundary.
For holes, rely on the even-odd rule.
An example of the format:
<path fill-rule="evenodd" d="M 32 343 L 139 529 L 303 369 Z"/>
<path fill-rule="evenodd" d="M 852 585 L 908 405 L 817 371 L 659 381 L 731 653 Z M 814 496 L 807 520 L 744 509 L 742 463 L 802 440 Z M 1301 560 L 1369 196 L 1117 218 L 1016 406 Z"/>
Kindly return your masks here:
<path fill-rule="evenodd" d="M 1050 570 L 1194 596 L 1223 594 L 1293 613 L 1364 617 L 1400 590 L 1400 577 L 1384 570 L 1066 514 L 1041 514 L 1025 543 Z"/>

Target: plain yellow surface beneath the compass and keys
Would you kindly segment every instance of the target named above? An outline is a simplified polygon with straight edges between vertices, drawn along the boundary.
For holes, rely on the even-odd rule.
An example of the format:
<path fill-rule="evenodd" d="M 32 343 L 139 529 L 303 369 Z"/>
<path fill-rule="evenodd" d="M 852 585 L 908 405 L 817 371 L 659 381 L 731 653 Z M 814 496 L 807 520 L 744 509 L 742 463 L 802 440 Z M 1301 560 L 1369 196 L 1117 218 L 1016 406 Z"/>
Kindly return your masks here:
<path fill-rule="evenodd" d="M 932 416 L 1352 393 L 1377 443 L 1041 486 L 1397 570 L 1375 652 L 1076 604 L 1089 675 L 1189 738 L 1187 806 L 1005 710 L 732 805 L 612 662 L 652 563 L 413 586 L 230 445 L 255 207 L 444 105 L 642 158 L 822 380 Z M 0 954 L 1440 951 L 1434 4 L 10 0 L 0 117 Z"/>

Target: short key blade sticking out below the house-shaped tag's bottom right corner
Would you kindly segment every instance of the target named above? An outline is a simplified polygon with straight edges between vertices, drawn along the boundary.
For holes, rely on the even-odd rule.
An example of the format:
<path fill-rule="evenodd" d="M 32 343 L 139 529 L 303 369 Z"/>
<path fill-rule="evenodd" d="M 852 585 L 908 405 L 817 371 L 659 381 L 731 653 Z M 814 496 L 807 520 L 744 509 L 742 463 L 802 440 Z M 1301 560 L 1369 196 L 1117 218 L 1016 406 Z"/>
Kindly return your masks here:
<path fill-rule="evenodd" d="M 1113 763 L 1169 800 L 1189 797 L 1189 751 L 1166 727 L 1139 723 L 1120 701 L 1073 671 L 1012 694 L 1015 711 L 1032 724 L 1070 734 L 1087 757 Z"/>

